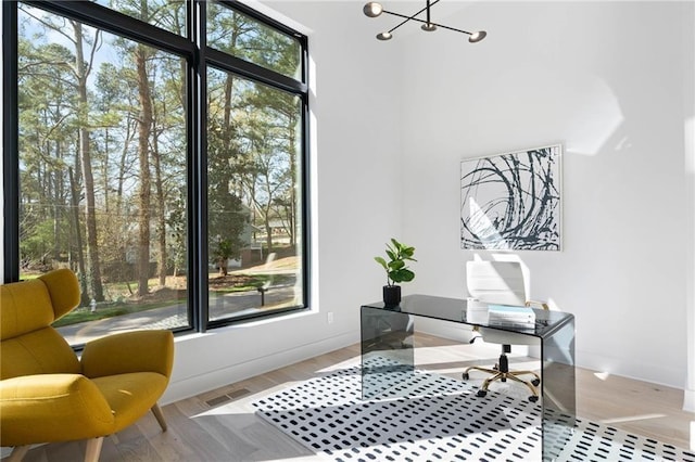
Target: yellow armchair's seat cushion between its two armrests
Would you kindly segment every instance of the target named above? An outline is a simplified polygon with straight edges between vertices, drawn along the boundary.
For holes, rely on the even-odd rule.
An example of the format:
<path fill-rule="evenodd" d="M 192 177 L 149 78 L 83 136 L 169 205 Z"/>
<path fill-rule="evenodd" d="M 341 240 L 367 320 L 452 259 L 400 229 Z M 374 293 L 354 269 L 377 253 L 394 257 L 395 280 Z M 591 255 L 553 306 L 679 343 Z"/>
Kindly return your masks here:
<path fill-rule="evenodd" d="M 121 432 L 146 414 L 160 399 L 168 378 L 156 372 L 131 372 L 92 378 L 111 407 L 114 427 Z"/>

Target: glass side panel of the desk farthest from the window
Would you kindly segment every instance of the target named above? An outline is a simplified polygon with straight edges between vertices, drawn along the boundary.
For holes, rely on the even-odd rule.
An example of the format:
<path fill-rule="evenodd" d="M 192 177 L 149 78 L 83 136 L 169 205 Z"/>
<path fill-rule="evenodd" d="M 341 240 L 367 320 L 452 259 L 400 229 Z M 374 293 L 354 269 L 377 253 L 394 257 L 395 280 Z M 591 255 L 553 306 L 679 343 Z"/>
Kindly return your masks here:
<path fill-rule="evenodd" d="M 574 432 L 574 319 L 542 343 L 543 460 L 556 460 Z"/>

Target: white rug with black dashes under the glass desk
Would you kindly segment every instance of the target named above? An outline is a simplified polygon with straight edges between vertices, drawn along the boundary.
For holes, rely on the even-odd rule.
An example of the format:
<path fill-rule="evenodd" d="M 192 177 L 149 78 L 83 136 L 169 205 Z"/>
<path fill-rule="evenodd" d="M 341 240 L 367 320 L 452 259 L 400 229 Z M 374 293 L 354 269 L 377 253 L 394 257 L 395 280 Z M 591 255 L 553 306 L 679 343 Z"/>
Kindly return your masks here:
<path fill-rule="evenodd" d="M 334 461 L 540 461 L 541 407 L 416 371 L 402 396 L 363 401 L 361 368 L 312 378 L 253 402 L 256 412 Z M 403 394 L 401 392 L 401 394 Z M 695 454 L 577 419 L 558 461 L 685 461 Z"/>

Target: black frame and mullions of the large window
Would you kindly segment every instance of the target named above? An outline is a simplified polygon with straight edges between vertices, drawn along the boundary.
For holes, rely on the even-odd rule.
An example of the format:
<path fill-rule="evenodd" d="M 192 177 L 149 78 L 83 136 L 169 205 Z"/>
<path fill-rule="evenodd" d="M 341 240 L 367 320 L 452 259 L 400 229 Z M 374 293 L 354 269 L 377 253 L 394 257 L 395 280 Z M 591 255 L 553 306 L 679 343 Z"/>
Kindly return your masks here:
<path fill-rule="evenodd" d="M 4 282 L 20 280 L 20 153 L 18 153 L 18 1 L 7 1 L 2 5 L 3 27 L 3 197 L 4 197 Z M 298 40 L 301 52 L 301 80 L 276 73 L 269 68 L 243 61 L 206 46 L 206 8 L 203 0 L 187 0 L 187 36 L 179 36 L 132 16 L 111 10 L 94 2 L 85 1 L 23 1 L 50 13 L 79 21 L 88 26 L 121 37 L 139 41 L 180 56 L 187 62 L 187 115 L 189 133 L 187 146 L 187 295 L 188 328 L 174 332 L 205 332 L 207 329 L 247 322 L 250 319 L 267 319 L 308 310 L 311 299 L 311 210 L 309 210 L 309 108 L 308 108 L 308 39 L 305 35 L 239 2 L 219 0 L 254 21 L 271 27 Z M 254 313 L 237 318 L 208 320 L 207 288 L 207 153 L 206 153 L 206 72 L 213 66 L 237 74 L 282 91 L 298 95 L 301 100 L 301 175 L 295 184 L 301 189 L 300 240 L 302 242 L 301 275 L 304 304 L 280 308 L 268 313 Z"/>

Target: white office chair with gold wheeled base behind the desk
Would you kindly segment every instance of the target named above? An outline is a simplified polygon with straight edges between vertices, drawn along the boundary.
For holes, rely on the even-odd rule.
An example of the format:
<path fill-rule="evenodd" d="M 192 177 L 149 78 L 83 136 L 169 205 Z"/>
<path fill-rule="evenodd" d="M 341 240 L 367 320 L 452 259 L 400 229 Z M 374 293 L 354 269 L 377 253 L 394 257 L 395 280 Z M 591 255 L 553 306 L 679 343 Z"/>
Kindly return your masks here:
<path fill-rule="evenodd" d="M 471 297 L 480 301 L 497 305 L 532 306 L 538 305 L 547 309 L 547 305 L 540 301 L 531 301 L 527 298 L 527 281 L 519 261 L 468 261 L 466 262 L 466 285 Z M 500 362 L 493 369 L 470 367 L 463 373 L 464 380 L 469 380 L 471 370 L 492 374 L 478 390 L 479 397 L 488 394 L 488 387 L 494 381 L 506 382 L 507 378 L 526 385 L 531 390 L 529 400 L 538 401 L 536 387 L 541 384 L 541 377 L 533 371 L 509 371 L 508 352 L 511 345 L 531 345 L 534 337 L 514 332 L 498 331 L 494 329 L 478 328 L 479 337 L 485 343 L 502 344 Z M 473 337 L 471 343 L 478 337 Z M 531 375 L 531 381 L 519 378 L 519 375 Z"/>

